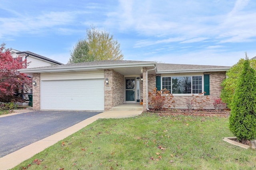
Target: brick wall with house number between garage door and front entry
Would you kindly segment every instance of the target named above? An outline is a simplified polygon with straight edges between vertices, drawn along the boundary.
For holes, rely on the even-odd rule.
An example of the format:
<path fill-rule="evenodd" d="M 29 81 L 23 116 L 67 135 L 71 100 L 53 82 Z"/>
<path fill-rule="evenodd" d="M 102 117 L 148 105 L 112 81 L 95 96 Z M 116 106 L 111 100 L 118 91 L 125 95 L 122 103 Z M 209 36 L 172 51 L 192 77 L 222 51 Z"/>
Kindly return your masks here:
<path fill-rule="evenodd" d="M 124 76 L 115 70 L 104 70 L 104 79 L 108 78 L 109 84 L 104 83 L 104 111 L 124 104 Z"/>

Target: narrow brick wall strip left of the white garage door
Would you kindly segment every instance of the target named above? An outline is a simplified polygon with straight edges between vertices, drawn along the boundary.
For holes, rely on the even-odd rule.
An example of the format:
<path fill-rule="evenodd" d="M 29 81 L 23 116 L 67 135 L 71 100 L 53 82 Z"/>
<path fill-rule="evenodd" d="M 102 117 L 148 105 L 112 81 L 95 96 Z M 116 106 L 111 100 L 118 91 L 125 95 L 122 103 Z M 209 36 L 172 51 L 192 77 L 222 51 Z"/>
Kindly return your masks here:
<path fill-rule="evenodd" d="M 40 110 L 40 80 L 41 80 L 41 74 L 40 73 L 34 73 L 33 74 L 33 80 L 37 83 L 36 86 L 33 86 L 33 110 Z"/>

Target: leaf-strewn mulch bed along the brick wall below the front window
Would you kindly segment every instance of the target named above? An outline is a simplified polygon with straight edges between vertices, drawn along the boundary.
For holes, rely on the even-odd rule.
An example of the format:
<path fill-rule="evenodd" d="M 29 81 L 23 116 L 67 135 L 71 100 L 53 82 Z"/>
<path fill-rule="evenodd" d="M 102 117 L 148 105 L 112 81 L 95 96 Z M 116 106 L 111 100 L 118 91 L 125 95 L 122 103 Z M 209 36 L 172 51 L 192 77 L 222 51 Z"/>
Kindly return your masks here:
<path fill-rule="evenodd" d="M 158 113 L 159 116 L 164 117 L 168 115 L 199 115 L 199 116 L 223 116 L 227 117 L 230 115 L 230 109 L 215 110 L 215 109 L 165 109 L 162 111 L 149 110 L 149 112 Z"/>

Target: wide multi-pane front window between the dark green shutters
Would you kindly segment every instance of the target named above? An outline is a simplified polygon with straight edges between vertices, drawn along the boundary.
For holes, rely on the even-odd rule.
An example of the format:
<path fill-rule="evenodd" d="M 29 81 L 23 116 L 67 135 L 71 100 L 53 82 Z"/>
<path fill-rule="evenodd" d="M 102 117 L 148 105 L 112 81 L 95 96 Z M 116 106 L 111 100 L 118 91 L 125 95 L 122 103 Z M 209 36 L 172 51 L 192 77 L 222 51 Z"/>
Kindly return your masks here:
<path fill-rule="evenodd" d="M 162 77 L 164 88 L 172 94 L 199 94 L 202 93 L 202 76 Z"/>

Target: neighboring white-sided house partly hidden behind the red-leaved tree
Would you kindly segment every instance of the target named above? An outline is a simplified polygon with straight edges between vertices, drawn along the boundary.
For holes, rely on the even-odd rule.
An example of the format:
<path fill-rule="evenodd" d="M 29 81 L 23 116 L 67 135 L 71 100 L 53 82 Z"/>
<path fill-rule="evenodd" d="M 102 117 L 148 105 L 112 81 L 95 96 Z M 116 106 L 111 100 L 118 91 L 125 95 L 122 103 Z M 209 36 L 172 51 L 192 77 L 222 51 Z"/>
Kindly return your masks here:
<path fill-rule="evenodd" d="M 58 61 L 54 61 L 52 59 L 49 59 L 42 55 L 38 55 L 36 53 L 32 53 L 30 51 L 18 51 L 18 50 L 12 49 L 10 52 L 14 59 L 17 57 L 22 57 L 22 61 L 26 60 L 27 61 L 26 68 L 54 66 L 54 65 L 62 64 L 62 63 L 59 63 Z M 28 76 L 32 77 L 32 74 L 28 75 Z M 32 82 L 31 82 L 31 84 L 32 84 Z M 23 91 L 25 94 L 32 94 L 32 88 L 24 87 Z M 17 95 L 19 95 L 19 94 L 17 94 Z M 28 100 L 28 96 L 27 95 L 23 96 L 23 99 Z"/>

